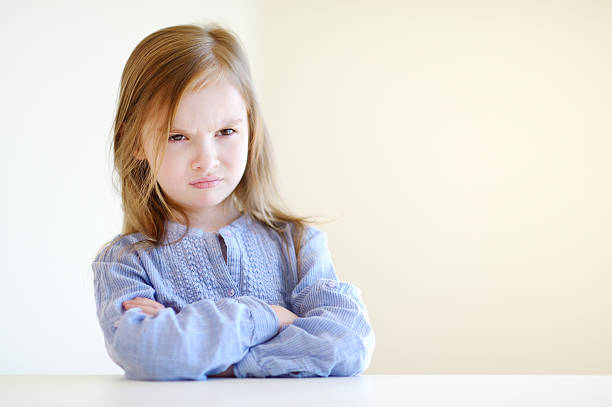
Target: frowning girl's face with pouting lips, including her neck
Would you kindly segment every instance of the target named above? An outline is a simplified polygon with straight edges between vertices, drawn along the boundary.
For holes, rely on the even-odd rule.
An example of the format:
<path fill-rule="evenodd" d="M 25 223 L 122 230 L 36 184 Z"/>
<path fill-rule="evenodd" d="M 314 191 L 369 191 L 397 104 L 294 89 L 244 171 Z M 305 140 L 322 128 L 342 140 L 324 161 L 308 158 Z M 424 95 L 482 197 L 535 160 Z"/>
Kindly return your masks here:
<path fill-rule="evenodd" d="M 186 208 L 192 226 L 214 229 L 236 211 L 226 198 L 244 174 L 248 140 L 246 106 L 230 82 L 183 95 L 157 181 Z M 146 146 L 145 155 L 151 162 Z"/>

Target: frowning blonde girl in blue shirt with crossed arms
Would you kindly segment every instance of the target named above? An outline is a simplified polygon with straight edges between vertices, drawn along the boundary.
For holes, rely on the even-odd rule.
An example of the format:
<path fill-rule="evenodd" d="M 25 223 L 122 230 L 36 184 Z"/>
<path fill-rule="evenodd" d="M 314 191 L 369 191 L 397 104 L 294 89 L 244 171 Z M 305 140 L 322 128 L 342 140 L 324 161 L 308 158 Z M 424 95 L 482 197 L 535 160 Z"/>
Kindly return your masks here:
<path fill-rule="evenodd" d="M 134 49 L 114 122 L 123 233 L 93 261 L 111 359 L 131 379 L 352 376 L 375 338 L 326 235 L 280 209 L 239 40 L 217 25 Z"/>

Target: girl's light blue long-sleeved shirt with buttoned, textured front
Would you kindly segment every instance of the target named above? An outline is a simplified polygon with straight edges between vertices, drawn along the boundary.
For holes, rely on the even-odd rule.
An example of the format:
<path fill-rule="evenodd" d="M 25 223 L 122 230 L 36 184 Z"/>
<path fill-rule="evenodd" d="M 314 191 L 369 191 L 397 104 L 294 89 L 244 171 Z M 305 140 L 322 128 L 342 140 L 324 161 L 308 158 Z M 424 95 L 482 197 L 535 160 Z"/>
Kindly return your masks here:
<path fill-rule="evenodd" d="M 168 222 L 168 241 L 186 227 Z M 291 234 L 244 214 L 218 232 L 190 228 L 179 243 L 121 254 L 119 237 L 92 263 L 106 349 L 130 379 L 204 380 L 234 365 L 236 377 L 354 376 L 375 337 L 358 287 L 338 281 L 324 232 L 308 226 L 298 281 Z M 225 247 L 223 247 L 225 245 Z M 227 261 L 223 250 L 226 250 Z M 148 316 L 123 301 L 151 298 Z M 298 315 L 280 332 L 268 304 Z M 278 334 L 277 334 L 278 332 Z"/>

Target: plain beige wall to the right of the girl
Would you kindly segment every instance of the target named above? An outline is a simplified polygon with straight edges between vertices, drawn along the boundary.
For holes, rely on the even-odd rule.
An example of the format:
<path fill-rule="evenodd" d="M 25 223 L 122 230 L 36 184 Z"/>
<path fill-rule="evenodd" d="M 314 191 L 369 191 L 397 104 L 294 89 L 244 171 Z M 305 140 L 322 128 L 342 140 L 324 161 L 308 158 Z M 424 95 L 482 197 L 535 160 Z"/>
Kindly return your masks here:
<path fill-rule="evenodd" d="M 265 1 L 283 191 L 367 373 L 612 373 L 612 2 Z"/>

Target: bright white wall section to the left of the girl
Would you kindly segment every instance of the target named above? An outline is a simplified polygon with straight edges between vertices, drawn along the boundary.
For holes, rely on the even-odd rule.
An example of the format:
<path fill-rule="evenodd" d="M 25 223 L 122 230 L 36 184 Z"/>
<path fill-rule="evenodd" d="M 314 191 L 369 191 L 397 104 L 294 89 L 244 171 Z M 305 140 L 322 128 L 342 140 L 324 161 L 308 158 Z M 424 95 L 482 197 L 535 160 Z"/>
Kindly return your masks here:
<path fill-rule="evenodd" d="M 153 31 L 208 21 L 234 29 L 255 65 L 255 6 L 2 3 L 0 374 L 122 372 L 104 349 L 90 264 L 121 230 L 107 152 L 123 65 Z"/>

